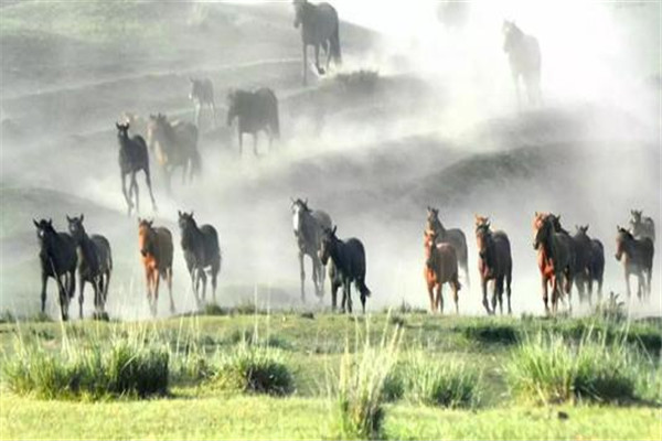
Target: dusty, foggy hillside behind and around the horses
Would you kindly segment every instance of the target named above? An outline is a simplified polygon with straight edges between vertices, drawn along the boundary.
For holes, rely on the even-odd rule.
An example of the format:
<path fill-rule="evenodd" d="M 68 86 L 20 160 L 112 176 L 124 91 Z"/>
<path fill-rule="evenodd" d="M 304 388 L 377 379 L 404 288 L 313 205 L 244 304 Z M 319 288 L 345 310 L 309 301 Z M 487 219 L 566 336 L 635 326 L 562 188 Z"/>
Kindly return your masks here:
<path fill-rule="evenodd" d="M 653 217 L 660 250 L 660 3 L 473 2 L 466 24 L 451 30 L 434 1 L 332 3 L 343 21 L 340 73 L 378 72 L 374 90 L 348 90 L 333 74 L 311 72 L 301 86 L 289 1 L 3 1 L 0 311 L 40 308 L 31 219 L 52 217 L 64 230 L 66 214 L 84 213 L 88 233 L 104 234 L 113 247 L 108 312 L 149 315 L 115 122 L 124 111 L 193 120 L 189 76 L 213 80 L 220 108 L 216 127 L 203 111 L 202 179 L 183 186 L 175 173 L 168 196 L 152 163 L 159 206 L 152 213 L 138 176 L 141 216 L 173 233 L 178 312 L 194 306 L 178 209 L 193 209 L 199 224 L 218 230 L 222 305 L 330 304 L 329 287 L 322 304 L 314 299 L 308 259 L 308 302 L 299 301 L 290 197 L 308 197 L 331 215 L 340 237 L 364 243 L 373 311 L 403 301 L 427 306 L 427 205 L 468 238 L 471 288 L 462 278 L 462 314 L 482 313 L 474 213 L 511 238 L 515 314 L 543 312 L 532 247 L 536 211 L 559 213 L 573 232 L 589 224 L 589 235 L 605 245 L 605 294 L 624 293 L 615 236 L 631 208 Z M 538 39 L 543 107 L 517 111 L 502 51 L 504 19 Z M 279 97 L 281 140 L 267 154 L 263 138 L 255 158 L 246 137 L 238 158 L 236 133 L 225 127 L 225 96 L 231 87 L 258 86 Z M 660 313 L 660 273 L 658 254 L 653 295 L 632 304 L 638 315 Z M 55 292 L 51 280 L 53 316 Z M 87 287 L 87 313 L 92 295 Z M 163 284 L 160 295 L 168 295 Z M 167 300 L 159 305 L 166 314 Z M 77 316 L 77 300 L 72 308 Z M 581 311 L 576 295 L 574 309 Z"/>

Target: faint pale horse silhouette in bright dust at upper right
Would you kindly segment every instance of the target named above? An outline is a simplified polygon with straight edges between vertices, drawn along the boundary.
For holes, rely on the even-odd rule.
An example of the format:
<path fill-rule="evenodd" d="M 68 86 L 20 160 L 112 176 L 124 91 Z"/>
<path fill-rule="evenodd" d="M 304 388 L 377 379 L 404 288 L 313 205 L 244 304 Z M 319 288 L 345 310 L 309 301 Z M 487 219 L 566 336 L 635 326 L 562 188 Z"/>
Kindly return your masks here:
<path fill-rule="evenodd" d="M 511 75 L 515 85 L 517 106 L 521 107 L 520 82 L 526 87 L 531 105 L 542 105 L 541 67 L 542 55 L 538 41 L 527 35 L 514 22 L 504 21 L 502 26 L 503 52 L 508 54 Z"/>

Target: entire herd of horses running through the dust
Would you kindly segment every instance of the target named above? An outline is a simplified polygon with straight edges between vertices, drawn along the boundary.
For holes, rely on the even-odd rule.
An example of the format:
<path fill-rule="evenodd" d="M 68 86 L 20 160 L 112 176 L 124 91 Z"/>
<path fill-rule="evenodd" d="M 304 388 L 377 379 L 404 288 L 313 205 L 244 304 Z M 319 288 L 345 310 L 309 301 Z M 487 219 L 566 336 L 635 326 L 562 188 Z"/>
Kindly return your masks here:
<path fill-rule="evenodd" d="M 459 4 L 459 3 L 458 3 Z M 339 18 L 329 3 L 313 4 L 307 0 L 293 0 L 295 28 L 300 29 L 302 44 L 302 82 L 307 83 L 308 49 L 314 51 L 314 68 L 319 75 L 325 74 L 331 62 L 342 63 Z M 461 22 L 461 9 L 444 10 L 444 17 Z M 502 26 L 503 51 L 506 53 L 517 103 L 520 89 L 524 86 L 528 101 L 542 103 L 541 68 L 542 56 L 537 40 L 525 34 L 514 22 L 505 21 Z M 325 53 L 325 68 L 320 65 L 320 50 Z M 171 176 L 177 169 L 182 170 L 182 182 L 191 182 L 201 173 L 201 154 L 197 147 L 199 128 L 203 109 L 209 108 L 213 123 L 216 123 L 214 85 L 209 78 L 190 78 L 190 100 L 194 104 L 194 122 L 171 120 L 166 115 L 151 115 L 147 120 L 136 115 L 125 114 L 122 122 L 116 122 L 119 144 L 119 168 L 122 195 L 128 215 L 140 212 L 140 196 L 137 175 L 145 174 L 152 209 L 157 202 L 152 191 L 150 155 L 153 155 L 164 176 L 166 190 L 171 192 Z M 243 138 L 253 136 L 253 149 L 257 155 L 257 140 L 266 132 L 269 149 L 280 136 L 278 98 L 274 90 L 263 87 L 256 90 L 231 90 L 227 94 L 227 126 L 237 121 L 239 153 L 243 153 Z M 136 133 L 129 135 L 129 129 Z M 127 190 L 127 178 L 129 186 Z M 340 308 L 352 312 L 352 286 L 359 292 L 362 310 L 365 312 L 371 290 L 367 288 L 366 255 L 363 243 L 357 238 L 340 239 L 337 236 L 331 216 L 319 209 L 311 209 L 308 201 L 292 200 L 293 233 L 299 250 L 301 300 L 306 300 L 305 258 L 312 261 L 312 282 L 316 295 L 324 294 L 325 277 L 331 286 L 331 308 L 338 308 L 338 290 L 342 288 Z M 216 301 L 217 278 L 221 271 L 222 252 L 216 229 L 211 225 L 197 226 L 193 213 L 179 212 L 181 249 L 190 273 L 196 305 L 206 302 L 207 278 L 211 279 L 213 301 Z M 632 211 L 631 227 L 618 228 L 616 258 L 623 262 L 628 295 L 631 293 L 630 276 L 639 280 L 638 297 L 650 294 L 654 224 L 641 212 Z M 108 287 L 113 272 L 113 257 L 109 241 L 100 235 L 88 235 L 83 226 L 84 216 L 68 217 L 68 233 L 57 232 L 51 219 L 34 220 L 40 243 L 42 270 L 41 306 L 45 310 L 46 284 L 49 278 L 56 281 L 61 315 L 68 319 L 68 304 L 75 294 L 75 276 L 78 273 L 79 316 L 83 316 L 84 291 L 87 283 L 94 290 L 95 314 L 104 313 L 108 298 Z M 602 244 L 587 235 L 588 226 L 578 227 L 570 235 L 560 224 L 559 216 L 551 213 L 536 213 L 533 222 L 534 248 L 541 271 L 545 310 L 555 313 L 559 300 L 570 295 L 576 287 L 580 301 L 590 302 L 592 283 L 597 281 L 601 295 L 605 270 Z M 508 313 L 511 308 L 511 284 L 513 261 L 511 244 L 506 233 L 492 230 L 489 218 L 476 217 L 476 241 L 479 257 L 479 275 L 482 288 L 482 305 L 488 314 L 494 314 L 496 306 L 503 313 L 503 293 L 506 293 Z M 170 295 L 170 310 L 175 305 L 172 297 L 173 255 L 172 233 L 163 226 L 154 226 L 152 220 L 138 218 L 139 251 L 145 267 L 147 298 L 152 314 L 157 314 L 159 286 L 163 279 Z M 459 228 L 446 228 L 439 218 L 439 211 L 428 207 L 424 232 L 424 277 L 427 284 L 430 311 L 444 311 L 442 286 L 452 290 L 456 312 L 459 311 L 460 270 L 463 282 L 469 287 L 467 236 Z M 492 283 L 492 295 L 488 299 L 488 283 Z M 549 310 L 549 290 L 552 292 Z M 569 304 L 569 302 L 568 302 Z"/>

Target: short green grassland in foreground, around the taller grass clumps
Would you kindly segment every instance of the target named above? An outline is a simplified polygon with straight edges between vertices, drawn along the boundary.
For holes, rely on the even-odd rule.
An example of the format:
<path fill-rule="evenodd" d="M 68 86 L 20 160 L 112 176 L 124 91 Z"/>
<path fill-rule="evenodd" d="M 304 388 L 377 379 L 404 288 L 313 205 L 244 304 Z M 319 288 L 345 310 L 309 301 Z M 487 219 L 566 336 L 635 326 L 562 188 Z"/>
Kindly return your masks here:
<path fill-rule="evenodd" d="M 403 327 L 399 362 L 413 351 L 425 363 L 470 366 L 480 373 L 480 400 L 450 409 L 404 397 L 384 406 L 382 435 L 389 439 L 659 439 L 660 329 L 658 322 L 601 319 L 441 318 L 423 313 L 381 313 L 370 319 L 343 315 L 271 313 L 192 316 L 150 323 L 11 322 L 0 325 L 3 362 L 36 343 L 58 354 L 64 345 L 106 344 L 140 335 L 146 345 L 170 347 L 166 396 L 78 397 L 42 400 L 11 390 L 2 378 L 2 439 L 323 439 L 339 435 L 333 397 L 345 349 L 359 355 L 366 338 L 380 342 L 385 329 Z M 638 398 L 543 405 L 511 392 L 506 366 L 533 335 L 553 334 L 581 342 L 587 333 L 612 340 L 638 354 L 645 373 Z M 99 343 L 100 342 L 100 343 Z M 204 369 L 183 368 L 192 354 L 212 365 L 237 344 L 252 342 L 278 352 L 292 375 L 286 397 L 228 390 Z M 624 342 L 624 343 L 623 343 Z M 423 355 L 420 355 L 423 354 Z M 189 364 L 188 366 L 190 366 Z M 650 375 L 649 375 L 650 374 Z M 406 383 L 405 383 L 406 384 Z M 35 423 L 39 421 L 39 423 Z"/>

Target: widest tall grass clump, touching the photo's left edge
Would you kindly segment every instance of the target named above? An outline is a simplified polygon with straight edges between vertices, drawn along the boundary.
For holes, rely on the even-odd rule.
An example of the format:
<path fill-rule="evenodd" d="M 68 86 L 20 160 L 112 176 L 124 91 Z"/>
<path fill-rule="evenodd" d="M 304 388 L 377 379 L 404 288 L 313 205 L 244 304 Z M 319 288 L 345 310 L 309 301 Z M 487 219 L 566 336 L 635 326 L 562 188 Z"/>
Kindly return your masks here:
<path fill-rule="evenodd" d="M 55 352 L 39 340 L 18 338 L 11 356 L 3 357 L 3 381 L 17 394 L 45 399 L 164 394 L 169 353 L 143 337 L 142 333 L 116 336 L 108 343 L 99 338 L 85 346 L 65 337 Z"/>

